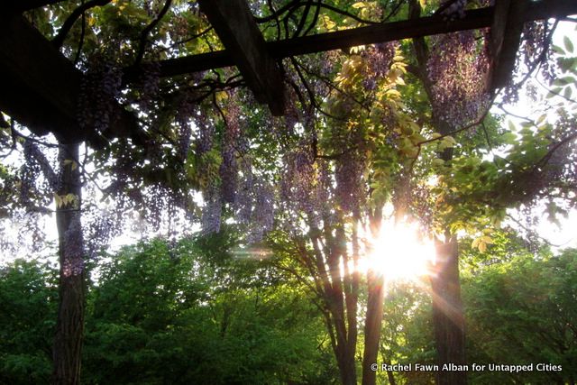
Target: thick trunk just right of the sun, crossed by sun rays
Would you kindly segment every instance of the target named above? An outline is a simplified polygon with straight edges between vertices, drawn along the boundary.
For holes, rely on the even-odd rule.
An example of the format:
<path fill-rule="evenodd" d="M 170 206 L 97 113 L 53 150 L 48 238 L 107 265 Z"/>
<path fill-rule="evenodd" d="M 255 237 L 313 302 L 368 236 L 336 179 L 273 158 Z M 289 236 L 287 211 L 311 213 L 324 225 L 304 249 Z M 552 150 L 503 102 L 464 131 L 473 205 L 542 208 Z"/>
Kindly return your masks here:
<path fill-rule="evenodd" d="M 461 284 L 459 281 L 459 251 L 456 236 L 446 243 L 436 244 L 436 262 L 431 276 L 433 289 L 433 324 L 439 369 L 454 363 L 464 365 L 465 323 Z M 465 385 L 466 371 L 437 371 L 437 385 Z"/>

